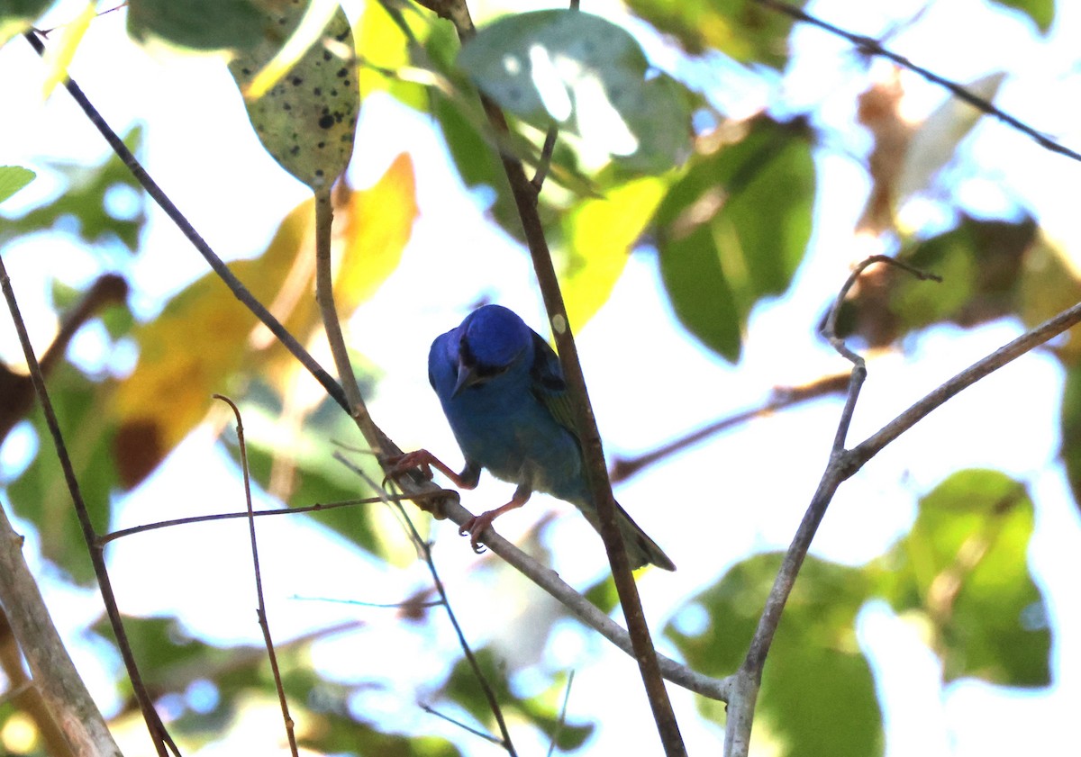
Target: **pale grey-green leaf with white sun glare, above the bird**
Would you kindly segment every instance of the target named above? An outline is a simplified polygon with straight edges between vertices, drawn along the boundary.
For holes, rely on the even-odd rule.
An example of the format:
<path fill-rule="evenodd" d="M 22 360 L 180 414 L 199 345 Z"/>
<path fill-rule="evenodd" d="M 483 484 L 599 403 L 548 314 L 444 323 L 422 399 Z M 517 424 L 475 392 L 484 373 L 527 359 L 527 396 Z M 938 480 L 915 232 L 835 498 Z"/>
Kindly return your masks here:
<path fill-rule="evenodd" d="M 557 123 L 582 152 L 660 173 L 690 149 L 682 87 L 652 76 L 626 29 L 577 11 L 505 16 L 466 43 L 458 65 L 507 110 L 538 129 Z"/>

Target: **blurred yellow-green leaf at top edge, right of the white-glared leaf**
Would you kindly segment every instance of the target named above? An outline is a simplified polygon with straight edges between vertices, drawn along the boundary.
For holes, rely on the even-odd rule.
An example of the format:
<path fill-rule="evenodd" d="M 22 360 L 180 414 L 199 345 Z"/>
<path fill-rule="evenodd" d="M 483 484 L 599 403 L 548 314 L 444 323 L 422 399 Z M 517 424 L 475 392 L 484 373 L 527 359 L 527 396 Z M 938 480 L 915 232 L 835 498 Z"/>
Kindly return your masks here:
<path fill-rule="evenodd" d="M 801 6 L 803 2 L 796 2 Z M 745 64 L 782 70 L 792 19 L 753 0 L 628 0 L 627 5 L 689 53 L 710 48 Z"/>

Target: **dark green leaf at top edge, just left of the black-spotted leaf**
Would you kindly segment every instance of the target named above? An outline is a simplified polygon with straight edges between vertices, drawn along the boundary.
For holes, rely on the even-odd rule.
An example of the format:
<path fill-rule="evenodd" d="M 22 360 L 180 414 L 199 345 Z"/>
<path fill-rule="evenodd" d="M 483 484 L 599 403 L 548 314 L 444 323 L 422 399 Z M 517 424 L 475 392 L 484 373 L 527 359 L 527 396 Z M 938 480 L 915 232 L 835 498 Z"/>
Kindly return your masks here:
<path fill-rule="evenodd" d="M 131 0 L 128 33 L 192 50 L 252 48 L 264 38 L 266 15 L 254 0 Z"/>

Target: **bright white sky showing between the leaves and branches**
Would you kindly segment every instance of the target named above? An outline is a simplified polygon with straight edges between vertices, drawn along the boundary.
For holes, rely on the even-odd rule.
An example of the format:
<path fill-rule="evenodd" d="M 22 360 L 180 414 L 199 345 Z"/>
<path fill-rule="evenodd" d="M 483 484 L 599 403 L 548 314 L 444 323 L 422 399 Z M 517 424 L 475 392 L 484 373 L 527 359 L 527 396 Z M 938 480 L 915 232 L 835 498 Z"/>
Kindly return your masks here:
<path fill-rule="evenodd" d="M 77 5 L 72 1 L 67 8 Z M 913 30 L 902 32 L 890 45 L 961 81 L 1007 65 L 1013 76 L 1003 84 L 998 105 L 1076 145 L 1076 40 L 1081 38 L 1081 8 L 1070 2 L 1058 5 L 1058 24 L 1047 45 L 1037 43 L 1019 16 L 989 15 L 975 0 L 931 3 Z M 809 10 L 857 32 L 878 36 L 919 8 L 915 1 L 827 0 Z M 974 28 L 974 19 L 987 25 Z M 793 70 L 802 73 L 784 83 L 772 82 L 779 90 L 751 85 L 746 79 L 731 86 L 725 79 L 716 86 L 723 90 L 719 98 L 738 92 L 748 110 L 775 102 L 783 92 L 786 112 L 815 108 L 825 123 L 842 126 L 843 141 L 827 144 L 818 153 L 819 213 L 811 262 L 801 269 L 788 296 L 756 311 L 744 361 L 733 369 L 698 348 L 673 323 L 651 255 L 635 255 L 611 302 L 579 335 L 610 455 L 652 449 L 705 421 L 760 403 L 773 386 L 799 383 L 843 367 L 815 339 L 814 327 L 848 266 L 862 254 L 853 245 L 851 230 L 867 179 L 853 156 L 863 153 L 867 138 L 843 124 L 851 122 L 855 95 L 867 82 L 855 76 L 857 67 L 845 43 L 811 29 L 798 31 L 795 41 Z M 651 43 L 649 50 L 658 64 L 672 65 L 670 53 L 659 44 Z M 702 65 L 692 69 L 697 78 L 707 70 Z M 64 93 L 42 104 L 40 70 L 36 56 L 18 41 L 0 51 L 0 103 L 4 104 L 0 164 L 27 165 L 40 173 L 43 158 L 99 160 L 104 144 Z M 148 56 L 124 42 L 122 15 L 114 14 L 92 26 L 74 72 L 114 127 L 123 130 L 135 120 L 145 121 L 147 167 L 224 257 L 259 252 L 281 216 L 304 199 L 303 188 L 254 139 L 219 62 Z M 937 87 L 916 80 L 908 84 L 917 113 L 929 112 L 944 97 Z M 1022 200 L 1049 231 L 1068 243 L 1067 248 L 1081 248 L 1081 226 L 1076 222 L 1072 202 L 1076 192 L 1071 191 L 1078 167 L 1001 126 L 985 123 L 976 137 L 965 154 L 980 168 L 966 163 L 956 174 L 964 178 L 957 187 L 963 202 L 996 213 Z M 385 376 L 372 407 L 379 421 L 402 447 L 423 445 L 454 465 L 459 455 L 427 386 L 425 360 L 431 338 L 457 323 L 482 296 L 513 307 L 534 326 L 543 324 L 544 317 L 526 257 L 485 225 L 480 198 L 458 191 L 426 120 L 387 98 L 373 97 L 362 113 L 351 170 L 355 184 L 371 181 L 404 149 L 413 153 L 418 170 L 423 216 L 401 269 L 357 314 L 351 333 L 353 343 Z M 54 191 L 43 175 L 19 200 L 35 201 Z M 5 211 L 13 207 L 5 206 Z M 457 256 L 441 252 L 449 229 L 456 251 L 469 251 L 468 270 Z M 134 261 L 122 251 L 80 249 L 53 236 L 11 245 L 4 249 L 4 260 L 23 308 L 37 313 L 42 333 L 48 330 L 41 319 L 45 282 L 57 271 L 63 280 L 81 285 L 102 266 L 121 270 L 136 283 L 133 303 L 145 314 L 156 312 L 164 297 L 204 272 L 198 255 L 168 221 L 162 222 L 160 214 L 154 214 L 143 252 Z M 8 329 L 0 327 L 0 337 L 8 339 Z M 939 328 L 909 344 L 906 354 L 876 360 L 852 440 L 873 432 L 924 392 L 1017 333 L 1013 323 L 973 333 Z M 4 347 L 4 360 L 12 354 Z M 71 355 L 86 365 L 112 369 L 123 369 L 133 360 L 123 350 L 104 354 L 101 340 L 93 335 L 77 340 Z M 859 638 L 873 661 L 885 701 L 891 755 L 984 757 L 1022 749 L 1060 751 L 1059 744 L 1072 743 L 1073 712 L 1081 701 L 1081 599 L 1075 586 L 1081 571 L 1077 549 L 1081 527 L 1055 462 L 1062 380 L 1057 364 L 1036 354 L 980 382 L 846 483 L 823 525 L 816 553 L 858 564 L 881 554 L 903 533 L 917 497 L 952 471 L 973 465 L 1003 470 L 1029 482 L 1036 497 L 1037 535 L 1030 559 L 1057 632 L 1056 684 L 1036 693 L 973 682 L 940 690 L 935 659 L 917 632 L 889 609 L 868 607 L 860 619 Z M 838 403 L 822 403 L 738 429 L 617 490 L 625 506 L 679 565 L 675 574 L 650 571 L 641 581 L 646 612 L 657 627 L 731 564 L 752 551 L 787 545 L 825 464 L 839 409 Z M 251 428 L 249 433 L 253 433 Z M 27 444 L 25 434 L 13 435 L 0 449 L 0 465 L 18 464 L 26 457 Z M 193 476 L 192 471 L 200 473 Z M 507 491 L 506 485 L 485 478 L 465 502 L 484 509 L 503 501 Z M 688 491 L 695 494 L 681 495 Z M 116 525 L 216 506 L 236 509 L 241 502 L 231 463 L 215 449 L 210 434 L 199 431 L 169 464 L 125 498 Z M 520 515 L 501 519 L 501 532 L 508 538 L 522 533 L 539 517 L 543 504 L 535 501 Z M 603 551 L 569 506 L 556 506 L 569 515 L 545 532 L 544 546 L 558 549 L 552 560 L 565 580 L 587 585 L 605 570 Z M 110 558 L 124 608 L 134 613 L 178 612 L 192 632 L 222 644 L 258 643 L 245 528 L 213 524 L 122 541 L 110 551 Z M 454 654 L 445 625 L 437 623 L 439 635 L 432 638 L 404 626 L 388 611 L 358 612 L 290 599 L 303 595 L 395 601 L 425 584 L 425 571 L 374 564 L 344 541 L 307 528 L 297 518 L 264 519 L 258 529 L 276 638 L 343 618 L 364 618 L 371 625 L 361 637 L 342 636 L 317 645 L 313 664 L 350 680 L 383 679 L 390 694 L 365 697 L 357 703 L 370 717 L 385 712 L 403 729 L 448 734 L 469 754 L 497 753 L 414 706 L 414 686 L 438 678 Z M 504 571 L 492 569 L 481 580 L 472 570 L 478 558 L 456 539 L 452 527 L 438 527 L 437 544 L 455 609 L 477 646 L 488 639 L 502 643 L 508 655 L 537 660 L 542 670 L 582 668 L 586 659 L 600 658 L 575 680 L 572 718 L 577 707 L 603 724 L 605 715 L 596 703 L 612 700 L 613 692 L 627 692 L 612 701 L 623 713 L 618 726 L 611 726 L 614 720 L 602 726 L 590 754 L 637 754 L 641 744 L 655 743 L 629 659 L 583 638 L 570 624 L 560 626 L 547 648 L 531 645 L 529 630 L 545 627 L 550 611 L 542 595 Z M 34 551 L 28 550 L 28 555 Z M 147 580 L 151 570 L 152 584 Z M 93 595 L 74 596 L 54 583 L 48 585 L 57 622 L 69 633 L 97 611 Z M 680 621 L 693 627 L 693 609 Z M 103 670 L 103 662 L 114 663 L 98 657 L 98 647 L 74 640 L 79 663 L 96 681 L 103 706 L 115 706 Z M 415 662 L 410 665 L 410 661 Z M 542 680 L 540 675 L 525 676 L 520 684 L 529 689 Z M 693 697 L 675 688 L 672 693 L 691 754 L 717 754 L 719 731 L 698 725 Z M 545 748 L 530 744 L 525 733 L 516 731 L 523 740 L 522 752 Z M 248 741 L 221 744 L 202 754 L 236 754 L 241 743 L 249 754 L 269 753 L 279 732 L 259 721 L 258 728 L 245 729 L 241 738 Z M 256 739 L 264 741 L 252 741 Z M 259 748 L 264 742 L 265 751 Z M 1041 743 L 1055 746 L 1041 749 Z"/>

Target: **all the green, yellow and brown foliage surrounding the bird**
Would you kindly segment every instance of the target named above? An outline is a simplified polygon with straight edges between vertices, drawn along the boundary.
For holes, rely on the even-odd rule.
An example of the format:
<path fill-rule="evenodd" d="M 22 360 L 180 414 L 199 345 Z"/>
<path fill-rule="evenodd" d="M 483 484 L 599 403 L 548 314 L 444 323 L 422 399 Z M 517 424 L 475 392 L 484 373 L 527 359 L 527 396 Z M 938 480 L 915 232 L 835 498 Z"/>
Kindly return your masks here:
<path fill-rule="evenodd" d="M 0 0 L 0 43 L 28 28 L 50 4 Z M 1053 0 L 997 4 L 1024 14 L 1042 32 L 1055 21 Z M 792 19 L 755 0 L 630 0 L 628 5 L 640 27 L 652 27 L 695 63 L 723 59 L 773 83 L 790 65 Z M 250 91 L 267 62 L 288 57 L 283 48 L 307 9 L 301 0 L 132 0 L 128 29 L 151 48 L 164 41 L 225 51 L 238 85 Z M 283 10 L 291 14 L 288 23 L 278 16 L 268 22 L 268 12 Z M 664 294 L 680 322 L 707 349 L 736 363 L 756 307 L 784 295 L 805 263 L 812 209 L 820 200 L 813 152 L 832 135 L 812 127 L 813 118 L 782 109 L 739 117 L 722 112 L 700 91 L 706 89 L 700 81 L 677 81 L 658 70 L 638 41 L 639 32 L 646 33 L 641 28 L 631 36 L 584 13 L 523 13 L 482 21 L 478 37 L 459 55 L 452 26 L 415 5 L 365 3 L 352 50 L 343 23 L 338 10 L 332 31 L 301 40 L 310 44 L 306 57 L 290 59 L 299 68 L 283 75 L 281 64 L 277 85 L 249 103 L 268 151 L 302 181 L 325 186 L 352 153 L 360 95 L 385 93 L 430 116 L 464 185 L 488 198 L 491 220 L 519 241 L 523 231 L 499 153 L 522 159 L 531 174 L 546 170 L 537 209 L 576 329 L 606 302 L 629 256 L 655 251 Z M 54 77 L 63 73 L 63 60 L 80 35 L 68 39 L 64 55 L 54 54 L 58 62 L 46 64 Z M 518 68 L 509 70 L 508 60 Z M 526 64 L 536 68 L 526 71 Z M 991 97 L 1001 80 L 1002 72 L 995 72 L 973 85 L 986 86 L 979 91 Z M 332 92 L 337 84 L 341 90 Z M 508 109 L 508 133 L 490 126 L 475 87 Z M 885 349 L 945 323 L 973 328 L 1015 319 L 1031 326 L 1081 300 L 1076 267 L 1040 228 L 1035 208 L 979 218 L 950 206 L 948 220 L 932 232 L 899 226 L 898 206 L 934 189 L 934 177 L 956 159 L 977 123 L 971 108 L 958 109 L 952 100 L 922 123 L 910 123 L 902 114 L 904 95 L 900 78 L 894 78 L 869 84 L 856 104 L 857 122 L 870 138 L 872 185 L 866 222 L 857 226 L 895 240 L 898 257 L 945 281 L 934 285 L 893 267 L 869 269 L 844 302 L 841 335 Z M 542 145 L 552 121 L 564 131 L 549 157 Z M 125 141 L 135 149 L 141 135 L 135 129 Z M 42 178 L 51 172 L 61 189 L 18 216 L 4 216 L 0 246 L 53 232 L 85 245 L 139 252 L 145 200 L 119 160 L 92 166 L 37 161 L 32 167 L 0 167 L 0 201 L 35 172 Z M 334 202 L 335 297 L 347 317 L 398 269 L 411 239 L 419 213 L 413 158 L 398 156 L 369 189 L 339 184 Z M 231 266 L 309 347 L 321 339 L 311 297 L 311 202 L 302 203 L 281 219 L 262 255 Z M 80 293 L 58 283 L 53 290 L 58 311 L 77 308 Z M 823 302 L 831 296 L 825 294 Z M 146 323 L 136 323 L 126 308 L 104 302 L 85 320 L 101 321 L 108 339 L 130 341 L 139 354 L 134 373 L 122 380 L 88 376 L 63 363 L 49 378 L 99 530 L 112 521 L 117 494 L 144 481 L 193 428 L 231 424 L 213 407 L 214 392 L 241 404 L 253 481 L 270 496 L 299 506 L 369 494 L 332 457 L 334 440 L 351 437 L 350 421 L 312 390 L 310 378 L 215 276 L 187 285 Z M 1081 351 L 1069 338 L 1051 349 L 1067 371 L 1060 456 L 1081 501 Z M 377 369 L 363 355 L 355 357 L 370 395 Z M 0 367 L 3 431 L 25 417 L 24 429 L 39 447 L 26 469 L 4 482 L 4 506 L 10 501 L 36 528 L 51 569 L 86 585 L 93 574 L 49 434 L 40 413 L 28 410 L 25 377 Z M 236 459 L 235 437 L 223 436 Z M 383 505 L 306 517 L 391 566 L 412 560 L 412 553 L 403 558 L 400 549 L 388 546 Z M 783 755 L 885 751 L 876 681 L 855 632 L 868 601 L 884 603 L 920 631 L 940 661 L 944 682 L 975 678 L 998 686 L 1046 686 L 1052 628 L 1027 564 L 1032 523 L 1033 503 L 1023 483 L 996 471 L 962 471 L 920 499 L 911 529 L 876 559 L 842 566 L 809 557 L 765 667 L 756 738 Z M 684 609 L 700 610 L 704 628 L 668 625 L 665 633 L 695 670 L 723 676 L 738 667 L 778 564 L 777 554 L 743 559 Z M 426 591 L 418 589 L 417 596 L 427 596 Z M 617 607 L 606 577 L 587 596 L 606 612 Z M 415 610 L 402 617 L 412 623 L 430 620 Z M 178 618 L 125 621 L 154 694 L 181 702 L 171 727 L 196 748 L 255 707 L 275 706 L 262 648 L 208 644 L 187 635 Z M 551 618 L 546 622 L 555 624 Z M 94 626 L 98 640 L 110 638 L 105 628 L 104 623 Z M 385 684 L 345 684 L 317 674 L 309 654 L 315 641 L 295 639 L 278 650 L 294 718 L 303 724 L 303 745 L 323 753 L 459 754 L 436 736 L 383 732 L 374 718 L 356 712 L 352 701 L 360 692 L 382 691 Z M 547 675 L 534 687 L 539 693 L 520 697 L 510 682 L 518 672 L 509 667 L 513 663 L 493 650 L 483 647 L 478 658 L 512 729 L 528 727 L 545 739 L 559 731 L 561 751 L 588 744 L 596 730 L 588 706 L 572 711 L 570 722 L 559 722 L 561 675 Z M 432 706 L 494 730 L 471 670 L 459 660 L 444 671 L 426 682 Z M 195 684 L 213 689 L 212 706 L 191 701 Z M 698 704 L 704 717 L 724 721 L 723 705 Z M 14 708 L 0 705 L 0 734 L 16 716 Z M 0 742 L 0 751 L 4 746 Z M 34 748 L 30 754 L 42 754 Z"/>

